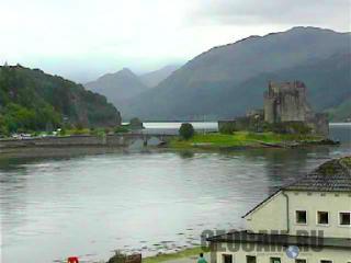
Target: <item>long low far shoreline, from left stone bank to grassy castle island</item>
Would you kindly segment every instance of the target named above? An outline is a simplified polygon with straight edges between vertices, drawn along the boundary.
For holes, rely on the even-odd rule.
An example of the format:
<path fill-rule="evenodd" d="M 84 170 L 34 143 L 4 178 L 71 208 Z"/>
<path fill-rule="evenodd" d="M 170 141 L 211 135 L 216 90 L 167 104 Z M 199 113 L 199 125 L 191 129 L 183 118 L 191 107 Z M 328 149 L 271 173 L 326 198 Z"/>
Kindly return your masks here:
<path fill-rule="evenodd" d="M 241 133 L 241 135 L 245 133 Z M 241 136 L 239 134 L 239 136 Z M 70 150 L 75 153 L 109 153 L 109 152 L 123 152 L 131 150 L 194 150 L 194 151 L 236 151 L 236 150 L 253 150 L 253 149 L 294 149 L 305 147 L 318 147 L 318 146 L 340 146 L 339 141 L 333 141 L 328 138 L 318 139 L 290 139 L 290 140 L 260 140 L 260 139 L 236 139 L 235 135 L 220 135 L 220 134 L 206 134 L 196 135 L 190 140 L 183 140 L 179 136 L 173 136 L 169 141 L 149 145 L 149 146 L 137 146 L 136 148 L 129 147 L 131 145 L 125 144 L 97 144 L 97 138 L 93 136 L 90 138 L 84 137 L 72 137 L 75 144 L 60 144 L 53 142 L 58 138 L 41 138 L 41 139 L 27 139 L 27 140 L 7 140 L 8 146 L 1 145 L 0 141 L 0 153 L 2 156 L 25 156 L 26 153 L 38 156 L 56 156 L 56 153 L 66 153 Z M 253 134 L 253 136 L 261 136 Z M 83 138 L 83 142 L 80 142 L 80 138 Z M 222 141 L 222 139 L 229 139 Z M 67 139 L 67 137 L 65 137 Z M 88 139 L 88 140 L 87 140 Z M 91 139 L 91 141 L 89 141 Z M 41 144 L 33 144 L 33 140 L 39 140 Z M 47 142 L 45 142 L 45 140 Z M 52 142 L 50 142 L 52 141 Z M 10 144 L 9 144 L 10 142 Z M 13 144 L 12 144 L 13 142 Z M 43 144 L 44 142 L 44 144 Z"/>

